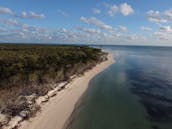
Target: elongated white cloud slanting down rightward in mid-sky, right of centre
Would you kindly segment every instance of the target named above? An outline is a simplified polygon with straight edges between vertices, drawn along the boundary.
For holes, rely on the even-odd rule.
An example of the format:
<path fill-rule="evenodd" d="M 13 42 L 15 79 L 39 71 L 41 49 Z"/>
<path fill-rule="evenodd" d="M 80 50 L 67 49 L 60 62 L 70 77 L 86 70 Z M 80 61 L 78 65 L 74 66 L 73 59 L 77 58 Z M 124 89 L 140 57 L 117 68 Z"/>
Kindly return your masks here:
<path fill-rule="evenodd" d="M 104 22 L 98 20 L 95 17 L 91 17 L 91 18 L 81 17 L 80 20 L 83 21 L 84 23 L 95 25 L 95 26 L 97 26 L 101 29 L 107 30 L 107 31 L 113 30 L 112 26 L 105 24 Z"/>

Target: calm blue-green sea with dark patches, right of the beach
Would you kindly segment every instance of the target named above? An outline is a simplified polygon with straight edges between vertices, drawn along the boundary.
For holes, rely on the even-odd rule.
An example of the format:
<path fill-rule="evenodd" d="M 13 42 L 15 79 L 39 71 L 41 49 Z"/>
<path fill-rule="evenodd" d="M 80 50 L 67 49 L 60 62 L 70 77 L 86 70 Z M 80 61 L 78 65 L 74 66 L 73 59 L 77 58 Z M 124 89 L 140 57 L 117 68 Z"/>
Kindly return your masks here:
<path fill-rule="evenodd" d="M 90 81 L 67 129 L 172 129 L 172 49 L 103 49 L 116 63 Z"/>

